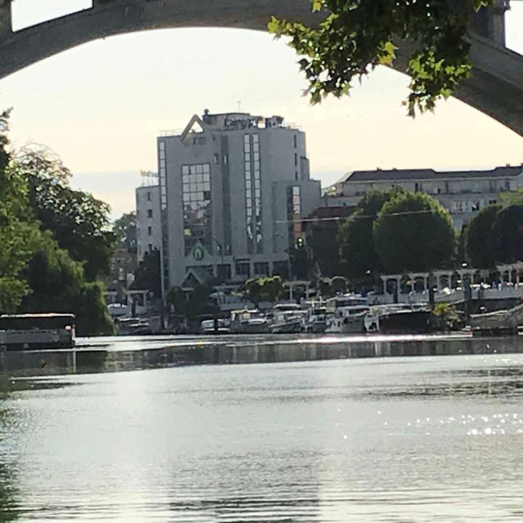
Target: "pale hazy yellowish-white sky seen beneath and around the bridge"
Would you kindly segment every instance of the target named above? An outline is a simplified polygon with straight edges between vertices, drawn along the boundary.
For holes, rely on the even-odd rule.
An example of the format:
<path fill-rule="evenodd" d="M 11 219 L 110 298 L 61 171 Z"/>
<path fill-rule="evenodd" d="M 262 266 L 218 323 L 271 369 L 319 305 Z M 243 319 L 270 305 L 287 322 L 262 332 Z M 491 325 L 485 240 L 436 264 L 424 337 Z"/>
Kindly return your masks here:
<path fill-rule="evenodd" d="M 90 5 L 88 0 L 16 0 L 14 28 Z M 507 15 L 508 46 L 523 53 L 523 2 Z M 0 80 L 14 106 L 16 146 L 60 154 L 73 185 L 134 207 L 140 169 L 157 170 L 155 138 L 194 113 L 241 108 L 281 115 L 307 133 L 312 174 L 323 185 L 354 169 L 491 168 L 523 163 L 523 138 L 451 99 L 411 120 L 401 100 L 408 78 L 380 68 L 350 98 L 309 106 L 296 56 L 263 32 L 172 29 L 84 44 Z"/>

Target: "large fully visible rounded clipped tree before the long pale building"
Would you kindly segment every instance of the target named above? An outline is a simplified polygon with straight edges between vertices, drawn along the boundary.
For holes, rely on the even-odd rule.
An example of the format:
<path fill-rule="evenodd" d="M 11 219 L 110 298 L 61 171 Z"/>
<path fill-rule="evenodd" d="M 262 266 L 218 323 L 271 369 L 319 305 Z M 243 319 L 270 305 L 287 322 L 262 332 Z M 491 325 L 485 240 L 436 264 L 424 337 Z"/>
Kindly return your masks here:
<path fill-rule="evenodd" d="M 383 268 L 396 274 L 450 267 L 456 251 L 449 212 L 420 192 L 401 192 L 386 202 L 373 238 Z"/>

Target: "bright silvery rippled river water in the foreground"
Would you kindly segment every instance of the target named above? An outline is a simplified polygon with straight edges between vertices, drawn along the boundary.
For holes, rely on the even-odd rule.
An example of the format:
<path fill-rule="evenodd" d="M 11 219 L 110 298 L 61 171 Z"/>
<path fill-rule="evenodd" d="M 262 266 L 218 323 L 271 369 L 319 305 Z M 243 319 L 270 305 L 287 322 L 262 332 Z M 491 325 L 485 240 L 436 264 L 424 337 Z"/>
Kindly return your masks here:
<path fill-rule="evenodd" d="M 521 521 L 523 355 L 4 380 L 2 521 Z"/>

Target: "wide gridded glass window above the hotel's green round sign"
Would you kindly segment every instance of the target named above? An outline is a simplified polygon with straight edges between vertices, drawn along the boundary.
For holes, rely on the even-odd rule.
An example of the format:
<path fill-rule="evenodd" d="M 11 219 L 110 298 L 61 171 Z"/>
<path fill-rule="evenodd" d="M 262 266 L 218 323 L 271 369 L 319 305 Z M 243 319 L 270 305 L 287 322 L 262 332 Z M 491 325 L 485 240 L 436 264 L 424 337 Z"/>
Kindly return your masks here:
<path fill-rule="evenodd" d="M 185 255 L 189 255 L 198 243 L 212 254 L 210 164 L 182 165 L 181 181 Z"/>

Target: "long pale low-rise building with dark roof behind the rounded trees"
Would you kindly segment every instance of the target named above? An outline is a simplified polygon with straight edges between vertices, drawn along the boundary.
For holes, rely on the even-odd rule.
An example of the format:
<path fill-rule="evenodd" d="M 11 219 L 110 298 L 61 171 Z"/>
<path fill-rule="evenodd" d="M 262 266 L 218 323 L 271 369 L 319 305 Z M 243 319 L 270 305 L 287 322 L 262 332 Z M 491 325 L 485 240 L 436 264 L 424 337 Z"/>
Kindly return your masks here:
<path fill-rule="evenodd" d="M 448 209 L 459 231 L 483 207 L 498 203 L 501 192 L 523 188 L 523 166 L 447 172 L 433 169 L 355 171 L 325 191 L 323 204 L 354 206 L 370 189 L 393 187 L 433 196 Z"/>

